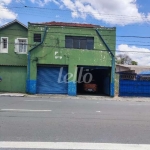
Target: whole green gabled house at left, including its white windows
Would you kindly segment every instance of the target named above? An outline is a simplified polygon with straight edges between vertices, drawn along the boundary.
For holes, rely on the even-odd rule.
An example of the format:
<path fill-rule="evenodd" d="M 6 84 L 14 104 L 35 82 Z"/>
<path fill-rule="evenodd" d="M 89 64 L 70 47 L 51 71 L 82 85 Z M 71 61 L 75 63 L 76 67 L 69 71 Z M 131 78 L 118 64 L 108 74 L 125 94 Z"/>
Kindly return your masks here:
<path fill-rule="evenodd" d="M 27 37 L 17 20 L 0 27 L 0 92 L 26 92 Z"/>

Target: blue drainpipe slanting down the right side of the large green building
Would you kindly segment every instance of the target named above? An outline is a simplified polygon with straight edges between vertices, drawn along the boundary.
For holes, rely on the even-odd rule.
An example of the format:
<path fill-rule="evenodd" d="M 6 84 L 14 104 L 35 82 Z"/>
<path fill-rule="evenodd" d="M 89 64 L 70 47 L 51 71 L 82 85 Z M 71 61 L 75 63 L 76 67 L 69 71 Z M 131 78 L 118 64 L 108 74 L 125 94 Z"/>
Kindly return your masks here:
<path fill-rule="evenodd" d="M 98 31 L 98 29 L 95 29 L 96 33 L 98 34 L 98 36 L 100 37 L 100 39 L 102 40 L 102 42 L 104 43 L 106 49 L 108 50 L 108 52 L 111 54 L 111 58 L 112 58 L 112 81 L 115 80 L 115 75 L 114 75 L 114 72 L 115 72 L 115 56 L 114 54 L 112 53 L 112 51 L 110 50 L 109 46 L 107 45 L 107 43 L 105 42 L 105 40 L 103 39 L 102 35 L 100 34 L 100 32 Z M 115 92 L 115 89 L 111 89 L 111 96 L 114 96 L 114 92 Z"/>

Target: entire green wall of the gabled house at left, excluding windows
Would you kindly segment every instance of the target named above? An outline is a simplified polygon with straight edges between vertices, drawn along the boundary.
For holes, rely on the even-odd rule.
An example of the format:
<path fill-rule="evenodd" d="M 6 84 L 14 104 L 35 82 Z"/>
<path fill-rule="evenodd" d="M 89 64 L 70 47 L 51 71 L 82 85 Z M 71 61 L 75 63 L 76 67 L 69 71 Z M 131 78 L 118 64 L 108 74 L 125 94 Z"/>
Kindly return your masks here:
<path fill-rule="evenodd" d="M 0 29 L 0 38 L 1 37 L 8 37 L 8 53 L 0 53 L 0 77 L 2 77 L 0 92 L 25 93 L 27 55 L 17 54 L 14 50 L 15 39 L 27 38 L 28 30 L 18 23 L 13 23 Z"/>

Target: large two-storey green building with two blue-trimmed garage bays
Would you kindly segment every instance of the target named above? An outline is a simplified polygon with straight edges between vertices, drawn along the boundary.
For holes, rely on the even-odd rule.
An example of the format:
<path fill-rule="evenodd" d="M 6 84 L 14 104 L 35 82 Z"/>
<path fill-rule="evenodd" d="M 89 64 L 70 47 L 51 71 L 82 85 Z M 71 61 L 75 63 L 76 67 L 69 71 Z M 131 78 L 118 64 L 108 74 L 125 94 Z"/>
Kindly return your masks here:
<path fill-rule="evenodd" d="M 27 92 L 75 96 L 93 84 L 98 95 L 114 96 L 115 45 L 116 28 L 29 23 Z"/>

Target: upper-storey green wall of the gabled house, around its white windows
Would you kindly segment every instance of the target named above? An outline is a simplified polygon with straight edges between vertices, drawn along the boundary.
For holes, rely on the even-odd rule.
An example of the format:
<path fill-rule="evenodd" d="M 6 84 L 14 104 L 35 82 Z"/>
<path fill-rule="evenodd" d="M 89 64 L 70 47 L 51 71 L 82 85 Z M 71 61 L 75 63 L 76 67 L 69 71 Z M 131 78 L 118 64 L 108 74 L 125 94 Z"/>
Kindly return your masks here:
<path fill-rule="evenodd" d="M 27 55 L 16 54 L 15 50 L 15 39 L 16 38 L 27 38 L 28 30 L 18 23 L 13 23 L 10 26 L 0 29 L 0 38 L 8 37 L 8 53 L 0 53 L 0 65 L 23 65 L 27 66 Z"/>

